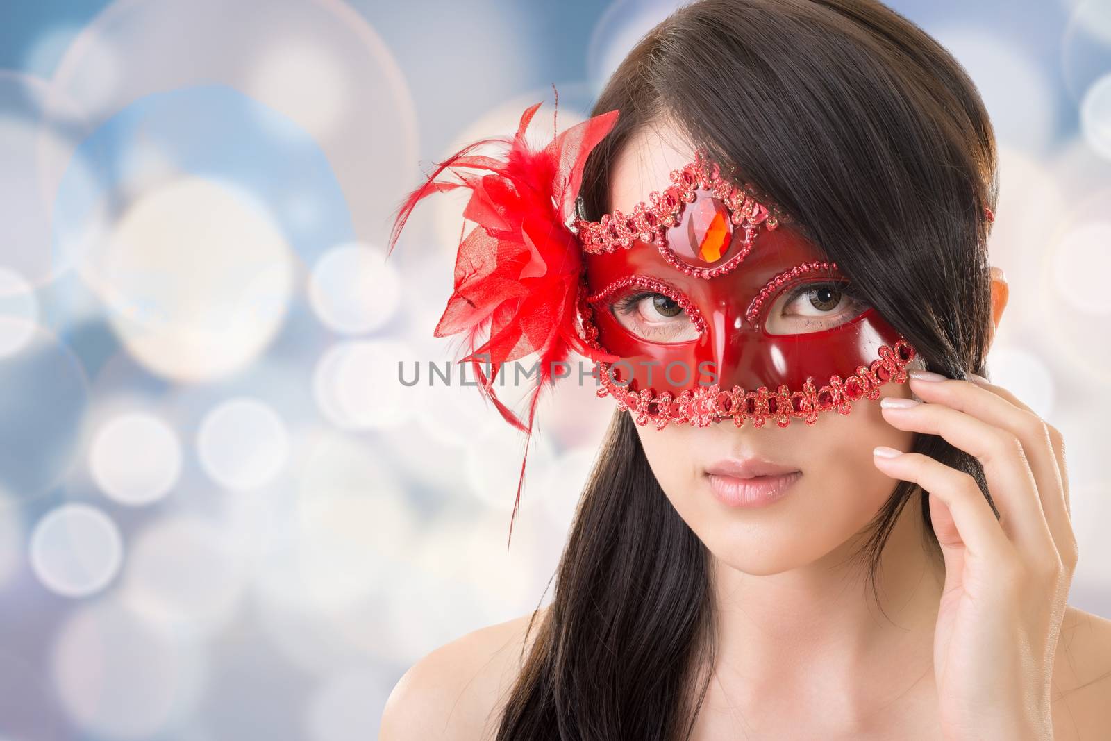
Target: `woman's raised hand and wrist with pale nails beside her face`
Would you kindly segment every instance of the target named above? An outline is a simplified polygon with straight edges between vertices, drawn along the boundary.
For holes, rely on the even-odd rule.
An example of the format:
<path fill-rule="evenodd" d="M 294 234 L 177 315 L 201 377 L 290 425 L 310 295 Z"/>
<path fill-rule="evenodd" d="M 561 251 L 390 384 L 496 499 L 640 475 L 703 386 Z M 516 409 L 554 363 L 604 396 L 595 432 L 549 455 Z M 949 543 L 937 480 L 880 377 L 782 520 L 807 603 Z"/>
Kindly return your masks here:
<path fill-rule="evenodd" d="M 923 402 L 900 399 L 912 403 L 883 417 L 979 459 L 998 520 L 962 471 L 882 447 L 874 461 L 929 492 L 945 562 L 933 642 L 944 738 L 1052 739 L 1053 657 L 1077 565 L 1064 445 L 1012 393 L 975 378 L 912 371 Z"/>

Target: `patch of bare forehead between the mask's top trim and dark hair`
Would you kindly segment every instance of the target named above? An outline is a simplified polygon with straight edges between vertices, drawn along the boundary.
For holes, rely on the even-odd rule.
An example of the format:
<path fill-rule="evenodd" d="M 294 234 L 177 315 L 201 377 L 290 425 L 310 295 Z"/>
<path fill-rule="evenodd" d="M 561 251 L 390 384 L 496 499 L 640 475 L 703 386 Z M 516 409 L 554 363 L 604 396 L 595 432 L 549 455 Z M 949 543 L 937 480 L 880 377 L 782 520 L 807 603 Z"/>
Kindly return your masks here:
<path fill-rule="evenodd" d="M 649 193 L 671 184 L 671 172 L 694 161 L 694 148 L 668 123 L 641 127 L 618 152 L 610 169 L 607 211 L 629 213 Z"/>

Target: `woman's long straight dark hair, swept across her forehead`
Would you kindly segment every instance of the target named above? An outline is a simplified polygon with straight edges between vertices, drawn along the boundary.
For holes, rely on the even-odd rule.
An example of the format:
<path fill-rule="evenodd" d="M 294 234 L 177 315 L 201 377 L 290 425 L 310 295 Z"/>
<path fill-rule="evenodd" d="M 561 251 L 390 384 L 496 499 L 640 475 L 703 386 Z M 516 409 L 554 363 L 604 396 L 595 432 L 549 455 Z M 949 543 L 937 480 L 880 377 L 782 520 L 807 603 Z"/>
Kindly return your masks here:
<path fill-rule="evenodd" d="M 994 134 L 965 71 L 914 23 L 871 0 L 700 0 L 641 39 L 591 116 L 614 109 L 580 217 L 609 210 L 608 176 L 630 137 L 668 121 L 804 224 L 925 368 L 987 375 Z M 963 451 L 923 434 L 913 450 L 969 472 L 987 495 Z M 915 493 L 900 482 L 858 551 L 873 590 Z M 689 738 L 717 651 L 711 579 L 705 547 L 618 412 L 498 739 Z"/>

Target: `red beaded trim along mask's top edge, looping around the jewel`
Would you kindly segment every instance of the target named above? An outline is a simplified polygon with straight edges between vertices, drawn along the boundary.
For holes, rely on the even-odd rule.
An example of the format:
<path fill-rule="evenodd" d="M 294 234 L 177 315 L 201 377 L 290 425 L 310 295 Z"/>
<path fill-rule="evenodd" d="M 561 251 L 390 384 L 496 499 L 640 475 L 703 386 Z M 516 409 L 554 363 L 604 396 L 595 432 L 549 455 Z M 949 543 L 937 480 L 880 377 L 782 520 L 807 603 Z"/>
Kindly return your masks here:
<path fill-rule="evenodd" d="M 649 200 L 637 203 L 632 213 L 620 209 L 603 214 L 599 221 L 575 219 L 571 229 L 582 241 L 583 250 L 591 253 L 612 252 L 618 248 L 632 247 L 638 240 L 655 244 L 660 254 L 675 269 L 697 278 L 713 278 L 729 272 L 744 260 L 752 249 L 752 241 L 765 224 L 769 230 L 793 221 L 780 207 L 762 199 L 755 186 L 745 182 L 737 186 L 721 177 L 721 168 L 709 161 L 702 152 L 695 152 L 695 160 L 679 170 L 671 171 L 671 184 L 663 192 L 652 191 Z M 744 230 L 741 249 L 725 262 L 712 268 L 699 268 L 679 259 L 668 247 L 668 229 L 677 227 L 680 211 L 695 199 L 694 191 L 702 189 L 713 193 L 724 202 L 730 220 Z"/>

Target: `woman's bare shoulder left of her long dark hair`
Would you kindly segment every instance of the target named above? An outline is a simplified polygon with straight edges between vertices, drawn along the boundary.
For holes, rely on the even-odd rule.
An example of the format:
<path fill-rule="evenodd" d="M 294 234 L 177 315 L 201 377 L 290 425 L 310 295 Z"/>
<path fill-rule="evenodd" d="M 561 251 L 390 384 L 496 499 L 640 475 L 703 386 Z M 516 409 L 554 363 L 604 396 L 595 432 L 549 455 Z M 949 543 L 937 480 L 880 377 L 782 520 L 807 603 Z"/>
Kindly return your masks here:
<path fill-rule="evenodd" d="M 386 701 L 379 741 L 493 738 L 493 711 L 520 672 L 526 629 L 536 614 L 531 645 L 547 610 L 471 631 L 410 667 Z"/>

